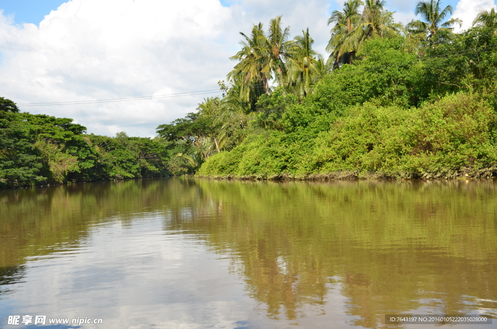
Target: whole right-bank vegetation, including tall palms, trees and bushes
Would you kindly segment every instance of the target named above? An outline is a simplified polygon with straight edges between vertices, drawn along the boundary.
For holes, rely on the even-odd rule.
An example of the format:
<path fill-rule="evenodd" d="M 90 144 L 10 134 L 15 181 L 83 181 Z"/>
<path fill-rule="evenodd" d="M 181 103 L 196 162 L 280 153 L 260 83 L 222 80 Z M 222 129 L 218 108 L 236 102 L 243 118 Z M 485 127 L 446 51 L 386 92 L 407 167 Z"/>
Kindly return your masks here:
<path fill-rule="evenodd" d="M 461 21 L 447 19 L 450 6 L 421 1 L 415 12 L 421 20 L 403 26 L 393 21 L 384 1 L 345 2 L 330 17 L 334 25 L 326 62 L 311 50 L 308 31 L 292 41 L 280 38 L 284 51 L 276 52 L 275 61 L 271 50 L 276 47 L 266 40 L 287 30 L 276 28 L 275 20 L 265 33 L 259 32 L 261 24 L 254 26 L 244 38 L 262 40 L 261 45 L 244 41 L 233 58 L 238 64 L 228 75 L 226 95 L 199 107 L 199 117 L 219 114 L 216 126 L 198 138 L 217 138 L 222 147 L 203 153 L 197 175 L 495 175 L 496 15 L 483 11 L 472 28 L 453 33 Z M 305 52 L 304 39 L 310 40 Z M 266 88 L 266 80 L 274 86 Z M 245 96 L 245 107 L 235 96 Z M 206 106 L 212 107 L 209 113 Z M 224 124 L 228 121 L 221 118 L 235 114 L 244 124 Z"/>

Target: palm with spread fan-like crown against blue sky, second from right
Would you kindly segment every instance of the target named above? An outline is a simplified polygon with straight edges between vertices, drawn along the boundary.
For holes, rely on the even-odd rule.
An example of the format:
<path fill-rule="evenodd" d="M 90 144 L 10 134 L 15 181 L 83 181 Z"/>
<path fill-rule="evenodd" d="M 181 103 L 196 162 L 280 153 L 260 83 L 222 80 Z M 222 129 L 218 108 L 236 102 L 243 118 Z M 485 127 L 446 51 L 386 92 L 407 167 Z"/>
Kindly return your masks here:
<path fill-rule="evenodd" d="M 452 14 L 453 9 L 450 4 L 441 9 L 440 1 L 441 0 L 429 0 L 417 2 L 414 13 L 416 15 L 421 15 L 421 18 L 424 21 L 411 21 L 407 25 L 408 29 L 414 33 L 423 31 L 428 35 L 426 40 L 429 40 L 439 30 L 452 32 L 454 30 L 454 27 L 452 27 L 454 24 L 459 24 L 459 27 L 461 27 L 463 21 L 459 18 L 451 18 L 442 23 L 445 16 Z"/>

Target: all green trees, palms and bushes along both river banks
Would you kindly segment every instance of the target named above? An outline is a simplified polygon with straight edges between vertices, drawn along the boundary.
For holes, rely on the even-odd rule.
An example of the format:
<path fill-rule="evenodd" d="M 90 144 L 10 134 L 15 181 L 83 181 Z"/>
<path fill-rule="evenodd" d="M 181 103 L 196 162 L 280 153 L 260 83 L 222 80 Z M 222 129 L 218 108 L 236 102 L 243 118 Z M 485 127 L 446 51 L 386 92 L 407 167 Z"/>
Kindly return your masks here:
<path fill-rule="evenodd" d="M 382 0 L 331 13 L 329 55 L 282 17 L 241 33 L 220 96 L 154 139 L 85 134 L 0 100 L 0 188 L 195 172 L 241 178 L 485 177 L 497 173 L 497 15 L 473 27 L 420 1 L 395 22 Z"/>

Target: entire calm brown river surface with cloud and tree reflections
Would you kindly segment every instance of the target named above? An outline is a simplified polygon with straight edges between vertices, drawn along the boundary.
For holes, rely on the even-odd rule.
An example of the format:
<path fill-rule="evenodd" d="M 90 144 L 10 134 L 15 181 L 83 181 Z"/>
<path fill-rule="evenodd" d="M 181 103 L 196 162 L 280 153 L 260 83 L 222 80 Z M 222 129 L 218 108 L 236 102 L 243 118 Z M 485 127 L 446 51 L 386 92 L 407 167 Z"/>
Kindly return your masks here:
<path fill-rule="evenodd" d="M 82 328 L 420 326 L 385 314 L 497 316 L 497 181 L 0 192 L 0 328 L 44 328 L 9 315 L 103 319 Z"/>

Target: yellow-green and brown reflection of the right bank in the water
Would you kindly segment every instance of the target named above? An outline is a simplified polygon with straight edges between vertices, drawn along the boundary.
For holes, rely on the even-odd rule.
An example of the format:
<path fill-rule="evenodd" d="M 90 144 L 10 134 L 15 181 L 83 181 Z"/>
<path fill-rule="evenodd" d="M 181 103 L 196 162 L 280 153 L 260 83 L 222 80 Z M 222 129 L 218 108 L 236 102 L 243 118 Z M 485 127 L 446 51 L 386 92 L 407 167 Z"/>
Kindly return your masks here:
<path fill-rule="evenodd" d="M 387 313 L 496 309 L 496 187 L 183 181 L 176 188 L 190 190 L 193 204 L 187 213 L 171 207 L 166 229 L 198 234 L 236 259 L 248 295 L 271 318 L 319 310 L 338 281 L 345 311 L 359 319 L 352 325 L 372 328 Z"/>

